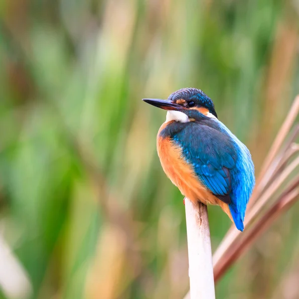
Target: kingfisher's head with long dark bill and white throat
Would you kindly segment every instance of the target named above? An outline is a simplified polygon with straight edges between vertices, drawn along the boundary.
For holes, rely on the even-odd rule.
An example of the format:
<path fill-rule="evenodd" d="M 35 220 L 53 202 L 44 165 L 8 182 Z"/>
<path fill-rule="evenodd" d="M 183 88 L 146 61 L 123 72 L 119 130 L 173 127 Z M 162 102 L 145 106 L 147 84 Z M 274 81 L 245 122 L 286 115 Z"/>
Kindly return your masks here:
<path fill-rule="evenodd" d="M 189 122 L 202 115 L 217 118 L 213 101 L 200 89 L 182 88 L 172 93 L 167 100 L 143 99 L 155 107 L 168 110 L 168 120 Z M 166 119 L 167 120 L 167 119 Z"/>

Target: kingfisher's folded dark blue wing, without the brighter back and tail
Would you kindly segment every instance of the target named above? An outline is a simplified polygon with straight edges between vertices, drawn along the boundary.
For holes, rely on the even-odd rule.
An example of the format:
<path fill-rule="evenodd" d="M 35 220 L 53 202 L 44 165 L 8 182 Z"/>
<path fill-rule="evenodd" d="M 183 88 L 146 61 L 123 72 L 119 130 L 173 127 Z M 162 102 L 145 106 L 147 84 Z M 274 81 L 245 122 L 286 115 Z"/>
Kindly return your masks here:
<path fill-rule="evenodd" d="M 186 132 L 187 131 L 187 132 Z M 183 149 L 199 180 L 225 203 L 231 202 L 231 170 L 237 152 L 227 135 L 196 123 L 186 126 L 173 140 Z"/>

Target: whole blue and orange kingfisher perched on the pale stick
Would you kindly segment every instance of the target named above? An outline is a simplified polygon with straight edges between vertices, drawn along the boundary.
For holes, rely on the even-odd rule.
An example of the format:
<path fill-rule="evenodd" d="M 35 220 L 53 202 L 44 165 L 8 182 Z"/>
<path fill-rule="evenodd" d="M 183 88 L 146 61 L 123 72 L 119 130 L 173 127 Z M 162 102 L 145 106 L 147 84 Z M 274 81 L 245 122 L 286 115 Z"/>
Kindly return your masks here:
<path fill-rule="evenodd" d="M 247 147 L 219 121 L 213 101 L 196 88 L 179 89 L 167 100 L 143 101 L 167 110 L 157 153 L 171 182 L 194 204 L 220 206 L 243 231 L 254 163 Z"/>

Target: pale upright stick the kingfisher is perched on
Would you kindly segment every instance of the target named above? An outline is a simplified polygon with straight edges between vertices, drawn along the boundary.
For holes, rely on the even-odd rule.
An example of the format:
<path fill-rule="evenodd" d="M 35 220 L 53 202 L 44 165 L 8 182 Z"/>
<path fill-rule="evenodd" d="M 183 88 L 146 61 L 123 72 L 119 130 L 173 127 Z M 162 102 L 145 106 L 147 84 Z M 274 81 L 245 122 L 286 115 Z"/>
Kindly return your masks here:
<path fill-rule="evenodd" d="M 191 299 L 215 299 L 207 206 L 185 198 Z"/>

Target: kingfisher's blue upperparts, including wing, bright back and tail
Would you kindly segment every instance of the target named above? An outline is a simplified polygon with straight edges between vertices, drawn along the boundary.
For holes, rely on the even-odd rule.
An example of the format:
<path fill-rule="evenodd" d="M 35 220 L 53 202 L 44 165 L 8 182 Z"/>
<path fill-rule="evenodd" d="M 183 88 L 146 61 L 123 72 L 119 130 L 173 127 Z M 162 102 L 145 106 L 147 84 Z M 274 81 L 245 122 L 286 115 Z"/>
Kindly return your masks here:
<path fill-rule="evenodd" d="M 233 220 L 243 231 L 246 206 L 255 184 L 254 165 L 246 146 L 218 119 L 184 124 L 172 139 L 182 148 L 200 181 L 215 196 L 230 198 Z"/>

